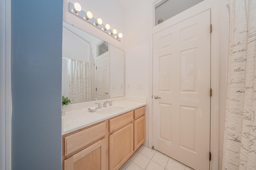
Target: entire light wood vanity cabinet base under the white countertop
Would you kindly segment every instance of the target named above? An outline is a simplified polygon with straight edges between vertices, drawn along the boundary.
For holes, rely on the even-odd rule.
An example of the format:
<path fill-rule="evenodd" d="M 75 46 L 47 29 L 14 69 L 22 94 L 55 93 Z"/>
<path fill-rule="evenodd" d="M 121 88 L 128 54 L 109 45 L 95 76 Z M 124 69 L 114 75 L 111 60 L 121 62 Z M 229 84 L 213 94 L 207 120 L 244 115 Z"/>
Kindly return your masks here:
<path fill-rule="evenodd" d="M 62 170 L 118 170 L 145 141 L 145 106 L 62 135 Z"/>

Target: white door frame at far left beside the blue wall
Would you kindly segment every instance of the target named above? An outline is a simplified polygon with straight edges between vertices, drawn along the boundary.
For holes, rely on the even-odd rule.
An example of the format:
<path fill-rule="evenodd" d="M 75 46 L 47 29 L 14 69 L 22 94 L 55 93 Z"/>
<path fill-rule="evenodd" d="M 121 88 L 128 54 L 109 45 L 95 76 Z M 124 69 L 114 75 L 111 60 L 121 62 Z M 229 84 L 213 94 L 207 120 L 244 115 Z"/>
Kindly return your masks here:
<path fill-rule="evenodd" d="M 0 169 L 12 169 L 11 1 L 0 1 Z"/>

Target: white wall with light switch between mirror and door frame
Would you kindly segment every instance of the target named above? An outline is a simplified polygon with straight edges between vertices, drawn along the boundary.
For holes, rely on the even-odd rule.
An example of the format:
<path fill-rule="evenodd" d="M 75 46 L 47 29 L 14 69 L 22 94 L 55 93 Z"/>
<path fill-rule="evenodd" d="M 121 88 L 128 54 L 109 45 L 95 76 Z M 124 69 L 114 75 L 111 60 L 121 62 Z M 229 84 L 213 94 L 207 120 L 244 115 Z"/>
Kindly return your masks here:
<path fill-rule="evenodd" d="M 123 2 L 125 13 L 125 84 L 126 96 L 146 97 L 149 92 L 150 72 L 152 72 L 152 27 L 153 3 L 150 0 L 130 0 Z M 130 9 L 129 9 L 130 8 Z M 138 89 L 143 83 L 143 89 Z M 146 106 L 146 142 L 148 145 L 148 105 Z"/>

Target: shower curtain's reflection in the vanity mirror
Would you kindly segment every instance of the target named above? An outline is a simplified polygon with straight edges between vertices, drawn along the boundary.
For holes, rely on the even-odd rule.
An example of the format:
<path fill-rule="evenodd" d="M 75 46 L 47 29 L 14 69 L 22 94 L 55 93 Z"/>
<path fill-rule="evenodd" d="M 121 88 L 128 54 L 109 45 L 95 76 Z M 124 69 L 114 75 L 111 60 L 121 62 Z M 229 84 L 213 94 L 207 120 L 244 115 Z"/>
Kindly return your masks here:
<path fill-rule="evenodd" d="M 92 64 L 68 59 L 68 84 L 71 103 L 92 100 Z"/>

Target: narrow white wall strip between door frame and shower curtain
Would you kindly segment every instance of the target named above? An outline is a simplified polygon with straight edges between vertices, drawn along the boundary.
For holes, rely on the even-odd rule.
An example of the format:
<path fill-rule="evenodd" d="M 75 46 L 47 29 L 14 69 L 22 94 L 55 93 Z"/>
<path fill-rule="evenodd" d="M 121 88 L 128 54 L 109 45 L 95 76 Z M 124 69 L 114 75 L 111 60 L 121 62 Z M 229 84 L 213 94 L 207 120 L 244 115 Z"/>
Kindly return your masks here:
<path fill-rule="evenodd" d="M 220 27 L 220 96 L 219 96 L 219 169 L 222 169 L 224 120 L 226 113 L 227 72 L 228 72 L 228 41 L 229 13 L 226 0 L 219 0 Z"/>

